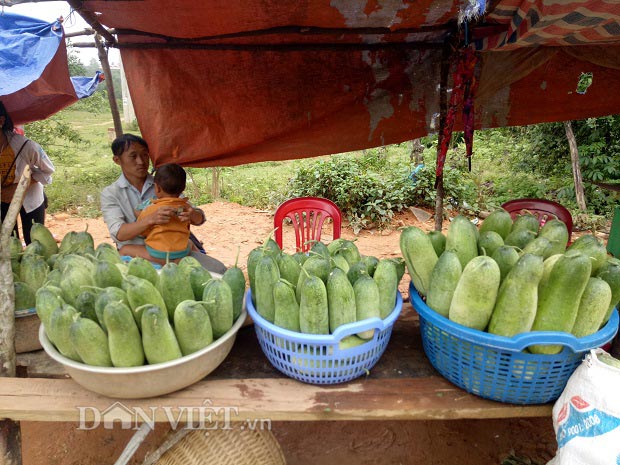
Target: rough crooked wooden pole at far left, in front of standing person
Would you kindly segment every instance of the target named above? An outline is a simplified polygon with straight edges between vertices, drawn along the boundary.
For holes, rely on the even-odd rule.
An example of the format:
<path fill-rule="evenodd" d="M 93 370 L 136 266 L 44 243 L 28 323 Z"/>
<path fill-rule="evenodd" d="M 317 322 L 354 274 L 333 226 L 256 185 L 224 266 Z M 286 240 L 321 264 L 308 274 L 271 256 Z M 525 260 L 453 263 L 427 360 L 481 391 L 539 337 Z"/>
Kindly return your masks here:
<path fill-rule="evenodd" d="M 15 377 L 15 288 L 11 270 L 9 241 L 17 215 L 30 185 L 30 167 L 26 166 L 17 184 L 2 226 L 0 227 L 0 377 Z M 0 463 L 21 465 L 21 433 L 19 423 L 0 421 Z"/>

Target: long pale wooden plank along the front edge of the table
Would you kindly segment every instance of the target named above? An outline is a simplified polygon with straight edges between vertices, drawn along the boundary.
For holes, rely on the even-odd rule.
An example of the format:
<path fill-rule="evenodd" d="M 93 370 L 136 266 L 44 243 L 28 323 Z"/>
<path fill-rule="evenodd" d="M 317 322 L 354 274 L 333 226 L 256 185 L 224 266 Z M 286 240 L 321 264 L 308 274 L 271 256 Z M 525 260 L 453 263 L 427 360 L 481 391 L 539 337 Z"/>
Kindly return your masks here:
<path fill-rule="evenodd" d="M 92 422 L 120 402 L 146 412 L 155 422 L 182 422 L 198 412 L 212 420 L 271 421 L 452 420 L 548 417 L 551 404 L 512 405 L 468 394 L 442 377 L 361 379 L 316 386 L 289 378 L 205 380 L 151 399 L 111 399 L 83 389 L 71 379 L 0 379 L 0 417 L 28 421 Z M 82 408 L 80 410 L 80 408 Z"/>

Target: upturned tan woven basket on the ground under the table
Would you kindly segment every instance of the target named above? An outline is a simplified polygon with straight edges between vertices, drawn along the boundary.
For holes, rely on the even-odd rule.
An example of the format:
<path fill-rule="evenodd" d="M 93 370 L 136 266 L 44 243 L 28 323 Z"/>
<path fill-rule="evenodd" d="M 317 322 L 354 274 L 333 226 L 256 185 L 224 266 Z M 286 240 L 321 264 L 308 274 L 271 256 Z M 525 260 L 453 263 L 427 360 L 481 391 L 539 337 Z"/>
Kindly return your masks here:
<path fill-rule="evenodd" d="M 174 444 L 156 465 L 285 465 L 280 444 L 264 429 L 194 430 Z"/>

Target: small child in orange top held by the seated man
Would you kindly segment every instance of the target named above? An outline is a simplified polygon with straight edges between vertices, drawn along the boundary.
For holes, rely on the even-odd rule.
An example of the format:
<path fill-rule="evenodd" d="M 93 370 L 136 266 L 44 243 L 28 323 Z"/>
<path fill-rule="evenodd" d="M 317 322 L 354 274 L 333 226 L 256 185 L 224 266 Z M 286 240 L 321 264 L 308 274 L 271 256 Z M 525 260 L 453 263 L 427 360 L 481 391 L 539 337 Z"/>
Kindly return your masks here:
<path fill-rule="evenodd" d="M 185 180 L 185 170 L 175 163 L 162 165 L 155 172 L 157 198 L 139 213 L 138 220 L 161 207 L 174 207 L 177 214 L 168 223 L 156 224 L 144 232 L 146 251 L 153 258 L 176 260 L 190 253 L 188 245 L 190 224 L 178 218 L 183 211 L 191 208 L 187 199 L 179 198 L 185 190 Z"/>

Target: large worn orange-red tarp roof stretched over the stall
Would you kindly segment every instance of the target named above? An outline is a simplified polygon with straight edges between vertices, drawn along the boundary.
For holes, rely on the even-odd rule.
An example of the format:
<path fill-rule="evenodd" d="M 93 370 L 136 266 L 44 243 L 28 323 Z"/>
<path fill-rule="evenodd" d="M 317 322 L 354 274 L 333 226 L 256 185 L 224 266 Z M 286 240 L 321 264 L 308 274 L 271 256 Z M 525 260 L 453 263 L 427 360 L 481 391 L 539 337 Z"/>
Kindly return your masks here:
<path fill-rule="evenodd" d="M 156 165 L 310 157 L 434 132 L 442 64 L 452 76 L 465 37 L 480 57 L 476 128 L 620 109 L 617 1 L 85 0 L 79 11 L 115 28 Z M 593 82 L 578 94 L 583 72 Z"/>

